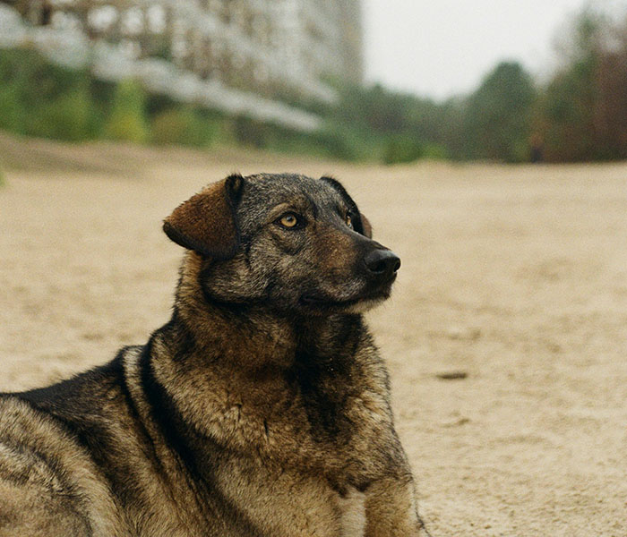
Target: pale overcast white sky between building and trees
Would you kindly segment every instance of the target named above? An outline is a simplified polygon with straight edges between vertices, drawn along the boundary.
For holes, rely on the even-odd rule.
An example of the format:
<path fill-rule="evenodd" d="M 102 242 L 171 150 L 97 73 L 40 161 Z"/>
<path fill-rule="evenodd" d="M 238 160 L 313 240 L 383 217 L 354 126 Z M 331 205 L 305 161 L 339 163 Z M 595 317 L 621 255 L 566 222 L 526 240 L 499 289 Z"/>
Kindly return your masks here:
<path fill-rule="evenodd" d="M 537 76 L 589 0 L 363 0 L 365 80 L 436 99 L 468 93 L 502 60 Z M 625 10 L 627 0 L 596 0 Z"/>

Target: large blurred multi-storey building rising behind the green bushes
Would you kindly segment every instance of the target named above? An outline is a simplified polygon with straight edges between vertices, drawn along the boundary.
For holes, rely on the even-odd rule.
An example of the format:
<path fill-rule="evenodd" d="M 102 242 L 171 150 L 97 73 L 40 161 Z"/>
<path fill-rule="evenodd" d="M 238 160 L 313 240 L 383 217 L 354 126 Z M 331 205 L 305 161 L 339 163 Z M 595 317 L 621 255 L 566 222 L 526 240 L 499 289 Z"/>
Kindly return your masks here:
<path fill-rule="evenodd" d="M 123 78 L 129 69 L 140 77 L 151 70 L 154 78 L 164 67 L 146 60 L 171 64 L 178 74 L 187 75 L 187 81 L 177 80 L 177 97 L 184 100 L 198 100 L 199 82 L 208 82 L 205 93 L 214 88 L 290 103 L 312 98 L 332 102 L 335 93 L 327 81 L 362 81 L 359 0 L 14 0 L 4 4 L 13 5 L 32 28 L 79 32 L 90 47 L 99 47 L 90 61 L 104 78 Z M 55 47 L 47 43 L 49 53 Z M 63 44 L 60 47 L 58 59 L 71 63 L 73 52 L 64 50 Z M 195 90 L 185 90 L 185 83 L 192 80 Z M 160 84 L 153 81 L 149 86 L 163 90 L 170 82 L 162 77 Z M 214 97 L 219 101 L 223 96 Z"/>

